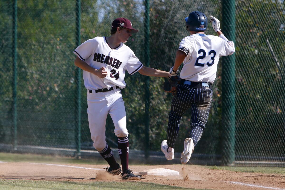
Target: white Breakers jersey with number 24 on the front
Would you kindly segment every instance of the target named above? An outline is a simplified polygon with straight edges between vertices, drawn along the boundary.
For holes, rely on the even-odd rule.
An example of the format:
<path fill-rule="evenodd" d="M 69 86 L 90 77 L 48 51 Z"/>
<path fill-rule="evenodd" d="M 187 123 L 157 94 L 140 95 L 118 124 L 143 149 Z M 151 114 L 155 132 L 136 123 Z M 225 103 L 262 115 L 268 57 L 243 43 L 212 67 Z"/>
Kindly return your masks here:
<path fill-rule="evenodd" d="M 115 85 L 125 88 L 125 71 L 133 75 L 143 67 L 131 48 L 120 43 L 117 48 L 112 49 L 106 37 L 97 36 L 89 39 L 78 46 L 73 53 L 95 69 L 106 68 L 107 76 L 104 78 L 83 71 L 84 85 L 89 90 L 109 89 Z"/>

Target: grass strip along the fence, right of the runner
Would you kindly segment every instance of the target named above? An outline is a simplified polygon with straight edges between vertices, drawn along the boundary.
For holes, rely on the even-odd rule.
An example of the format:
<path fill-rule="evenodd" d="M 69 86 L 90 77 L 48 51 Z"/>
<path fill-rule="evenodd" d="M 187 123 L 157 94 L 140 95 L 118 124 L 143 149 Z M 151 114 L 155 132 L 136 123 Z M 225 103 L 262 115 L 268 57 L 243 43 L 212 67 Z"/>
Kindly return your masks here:
<path fill-rule="evenodd" d="M 241 167 L 241 166 L 206 166 L 209 169 L 220 169 L 239 172 L 285 174 L 284 167 Z"/>

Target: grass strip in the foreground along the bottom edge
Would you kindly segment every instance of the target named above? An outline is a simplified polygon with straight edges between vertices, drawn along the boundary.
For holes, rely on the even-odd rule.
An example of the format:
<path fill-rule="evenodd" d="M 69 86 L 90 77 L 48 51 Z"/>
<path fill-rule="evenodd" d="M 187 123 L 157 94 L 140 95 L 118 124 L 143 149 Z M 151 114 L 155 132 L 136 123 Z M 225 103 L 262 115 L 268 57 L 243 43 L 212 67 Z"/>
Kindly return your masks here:
<path fill-rule="evenodd" d="M 44 180 L 0 180 L 1 190 L 44 190 L 44 189 L 56 189 L 56 190 L 109 190 L 109 189 L 120 189 L 120 190 L 132 190 L 132 189 L 185 189 L 181 187 L 159 185 L 155 183 L 144 183 L 138 181 L 126 181 L 126 182 L 72 182 L 72 181 L 44 181 Z M 198 189 L 192 189 L 198 190 Z"/>

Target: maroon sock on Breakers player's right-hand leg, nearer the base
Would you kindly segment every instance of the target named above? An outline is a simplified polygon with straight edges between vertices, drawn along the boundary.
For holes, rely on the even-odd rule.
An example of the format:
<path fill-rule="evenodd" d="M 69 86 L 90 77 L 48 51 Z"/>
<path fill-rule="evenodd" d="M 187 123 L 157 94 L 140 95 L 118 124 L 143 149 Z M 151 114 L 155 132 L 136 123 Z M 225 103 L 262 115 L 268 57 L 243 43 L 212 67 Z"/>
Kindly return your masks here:
<path fill-rule="evenodd" d="M 121 158 L 122 173 L 125 173 L 129 167 L 129 138 L 118 137 L 118 152 Z"/>

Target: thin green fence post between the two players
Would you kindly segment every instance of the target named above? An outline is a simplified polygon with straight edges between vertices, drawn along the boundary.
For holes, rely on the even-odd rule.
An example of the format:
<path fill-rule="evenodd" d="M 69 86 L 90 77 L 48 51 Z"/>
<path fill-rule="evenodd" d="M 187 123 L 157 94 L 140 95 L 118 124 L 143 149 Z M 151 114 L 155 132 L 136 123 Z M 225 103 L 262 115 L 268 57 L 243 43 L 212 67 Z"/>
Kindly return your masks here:
<path fill-rule="evenodd" d="M 144 24 L 144 58 L 145 58 L 145 66 L 149 67 L 150 64 L 150 49 L 149 49 L 149 0 L 144 1 L 145 6 L 145 24 Z M 149 156 L 149 104 L 150 104 L 150 92 L 149 92 L 149 76 L 145 76 L 144 81 L 145 87 L 145 143 L 144 143 L 144 157 L 148 158 Z"/>

